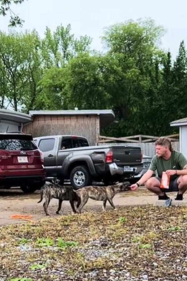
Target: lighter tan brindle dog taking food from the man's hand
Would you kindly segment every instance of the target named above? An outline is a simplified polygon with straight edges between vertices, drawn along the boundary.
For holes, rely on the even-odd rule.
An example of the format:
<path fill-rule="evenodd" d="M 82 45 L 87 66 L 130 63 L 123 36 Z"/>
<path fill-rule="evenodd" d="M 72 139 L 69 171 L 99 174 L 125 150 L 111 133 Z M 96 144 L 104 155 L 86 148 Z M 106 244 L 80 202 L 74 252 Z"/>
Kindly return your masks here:
<path fill-rule="evenodd" d="M 81 213 L 82 208 L 87 203 L 89 198 L 93 200 L 103 201 L 103 211 L 106 210 L 107 200 L 112 206 L 112 208 L 115 209 L 115 206 L 113 204 L 114 195 L 118 192 L 128 191 L 128 190 L 130 190 L 130 186 L 123 183 L 117 183 L 116 185 L 110 185 L 104 187 L 85 186 L 78 190 L 74 190 L 80 198 L 80 205 L 78 208 L 78 212 Z"/>

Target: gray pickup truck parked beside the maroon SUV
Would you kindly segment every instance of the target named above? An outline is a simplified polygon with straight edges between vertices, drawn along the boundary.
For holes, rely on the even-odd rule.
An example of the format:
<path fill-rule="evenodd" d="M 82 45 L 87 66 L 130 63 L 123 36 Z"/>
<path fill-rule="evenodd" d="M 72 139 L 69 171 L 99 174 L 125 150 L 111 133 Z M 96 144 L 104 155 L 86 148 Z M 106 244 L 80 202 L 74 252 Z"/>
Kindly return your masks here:
<path fill-rule="evenodd" d="M 141 148 L 125 145 L 89 146 L 82 136 L 34 138 L 44 155 L 46 179 L 70 180 L 78 189 L 103 180 L 105 185 L 138 175 L 143 167 Z"/>

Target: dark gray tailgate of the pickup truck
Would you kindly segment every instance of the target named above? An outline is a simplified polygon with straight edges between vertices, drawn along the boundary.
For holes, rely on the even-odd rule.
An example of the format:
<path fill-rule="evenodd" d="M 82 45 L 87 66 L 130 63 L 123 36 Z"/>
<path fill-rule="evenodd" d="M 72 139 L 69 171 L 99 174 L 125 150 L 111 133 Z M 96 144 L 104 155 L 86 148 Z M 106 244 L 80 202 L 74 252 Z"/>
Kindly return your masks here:
<path fill-rule="evenodd" d="M 113 150 L 113 161 L 117 165 L 141 165 L 141 148 L 137 146 L 115 146 Z"/>

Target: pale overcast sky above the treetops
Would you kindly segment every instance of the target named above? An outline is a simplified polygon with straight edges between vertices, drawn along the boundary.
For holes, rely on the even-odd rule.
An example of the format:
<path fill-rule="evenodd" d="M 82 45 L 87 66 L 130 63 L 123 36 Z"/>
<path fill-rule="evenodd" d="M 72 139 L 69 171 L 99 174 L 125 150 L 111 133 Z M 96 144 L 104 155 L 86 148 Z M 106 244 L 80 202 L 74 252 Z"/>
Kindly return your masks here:
<path fill-rule="evenodd" d="M 162 48 L 174 59 L 182 40 L 187 46 L 186 0 L 28 0 L 12 8 L 25 20 L 22 29 L 35 28 L 43 37 L 46 26 L 55 31 L 60 24 L 71 24 L 75 37 L 89 35 L 92 49 L 102 51 L 103 28 L 117 22 L 138 18 L 154 19 L 166 29 Z M 0 16 L 0 29 L 8 31 L 9 17 Z"/>

